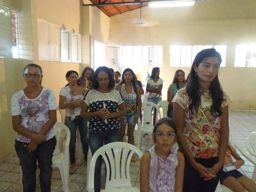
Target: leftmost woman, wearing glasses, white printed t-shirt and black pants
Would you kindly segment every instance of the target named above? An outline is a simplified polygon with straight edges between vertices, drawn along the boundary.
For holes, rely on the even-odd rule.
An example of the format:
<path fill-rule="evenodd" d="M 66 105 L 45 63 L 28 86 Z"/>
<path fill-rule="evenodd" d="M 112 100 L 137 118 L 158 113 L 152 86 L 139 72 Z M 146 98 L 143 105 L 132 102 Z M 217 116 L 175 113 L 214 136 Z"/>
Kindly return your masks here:
<path fill-rule="evenodd" d="M 52 154 L 56 146 L 54 124 L 56 98 L 52 90 L 40 85 L 43 74 L 37 64 L 28 64 L 23 72 L 27 86 L 12 96 L 12 126 L 17 132 L 15 149 L 22 169 L 24 192 L 36 191 L 36 168 L 40 168 L 40 187 L 49 192 L 52 178 Z"/>

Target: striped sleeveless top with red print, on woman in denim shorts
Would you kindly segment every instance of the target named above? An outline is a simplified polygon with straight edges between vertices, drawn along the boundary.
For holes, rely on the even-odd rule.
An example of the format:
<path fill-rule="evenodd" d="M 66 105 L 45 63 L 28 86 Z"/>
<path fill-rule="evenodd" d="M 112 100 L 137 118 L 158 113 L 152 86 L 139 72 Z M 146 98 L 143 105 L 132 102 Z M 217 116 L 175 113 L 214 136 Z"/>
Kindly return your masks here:
<path fill-rule="evenodd" d="M 132 92 L 126 93 L 124 83 L 122 84 L 121 95 L 124 98 L 124 106 L 126 109 L 126 115 L 132 115 L 137 112 L 137 94 L 132 86 Z"/>

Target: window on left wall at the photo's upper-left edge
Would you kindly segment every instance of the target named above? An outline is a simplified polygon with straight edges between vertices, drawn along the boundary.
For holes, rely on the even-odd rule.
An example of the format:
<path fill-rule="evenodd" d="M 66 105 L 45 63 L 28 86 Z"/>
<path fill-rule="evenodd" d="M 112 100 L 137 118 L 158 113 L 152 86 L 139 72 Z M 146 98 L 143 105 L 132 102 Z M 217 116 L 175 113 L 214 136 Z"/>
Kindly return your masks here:
<path fill-rule="evenodd" d="M 0 5 L 0 57 L 19 58 L 18 12 Z"/>

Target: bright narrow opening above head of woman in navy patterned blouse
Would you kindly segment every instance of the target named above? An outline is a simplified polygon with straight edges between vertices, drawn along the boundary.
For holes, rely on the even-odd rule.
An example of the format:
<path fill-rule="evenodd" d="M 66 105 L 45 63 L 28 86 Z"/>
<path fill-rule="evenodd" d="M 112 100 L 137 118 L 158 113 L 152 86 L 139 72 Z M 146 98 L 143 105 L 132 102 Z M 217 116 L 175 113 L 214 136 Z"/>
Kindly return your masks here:
<path fill-rule="evenodd" d="M 93 68 L 96 70 L 100 66 L 106 66 L 105 63 L 105 45 L 94 40 L 94 58 Z"/>

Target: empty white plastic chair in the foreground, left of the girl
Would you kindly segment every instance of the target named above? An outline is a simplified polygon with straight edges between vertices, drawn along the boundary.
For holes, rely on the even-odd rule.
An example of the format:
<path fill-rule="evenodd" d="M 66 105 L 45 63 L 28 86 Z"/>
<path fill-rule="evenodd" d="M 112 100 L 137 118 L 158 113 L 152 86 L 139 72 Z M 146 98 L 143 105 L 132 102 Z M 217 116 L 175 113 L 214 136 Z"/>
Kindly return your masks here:
<path fill-rule="evenodd" d="M 121 153 L 122 153 L 122 162 L 120 163 Z M 92 160 L 90 162 L 90 171 L 89 171 L 90 177 L 88 181 L 88 189 L 89 189 L 88 191 L 94 192 L 95 164 L 98 156 L 102 155 L 106 164 L 107 172 L 106 172 L 106 187 L 105 187 L 105 190 L 101 190 L 101 191 L 139 192 L 140 190 L 137 187 L 132 187 L 131 180 L 130 180 L 130 161 L 133 154 L 137 154 L 139 158 L 142 157 L 142 152 L 137 147 L 125 142 L 112 142 L 99 148 L 92 156 Z M 110 178 L 110 170 L 111 170 L 111 178 Z"/>

